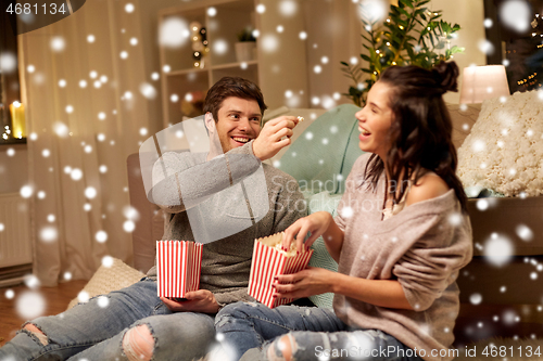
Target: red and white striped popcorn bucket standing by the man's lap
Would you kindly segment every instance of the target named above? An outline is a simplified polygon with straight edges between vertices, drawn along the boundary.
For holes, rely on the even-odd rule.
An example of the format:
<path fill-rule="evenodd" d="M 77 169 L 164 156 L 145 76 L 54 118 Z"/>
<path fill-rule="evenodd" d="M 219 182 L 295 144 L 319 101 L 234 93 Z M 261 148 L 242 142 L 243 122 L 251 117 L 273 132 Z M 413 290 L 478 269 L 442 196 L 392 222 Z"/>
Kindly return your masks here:
<path fill-rule="evenodd" d="M 199 288 L 202 246 L 191 241 L 156 241 L 159 297 L 184 298 Z"/>

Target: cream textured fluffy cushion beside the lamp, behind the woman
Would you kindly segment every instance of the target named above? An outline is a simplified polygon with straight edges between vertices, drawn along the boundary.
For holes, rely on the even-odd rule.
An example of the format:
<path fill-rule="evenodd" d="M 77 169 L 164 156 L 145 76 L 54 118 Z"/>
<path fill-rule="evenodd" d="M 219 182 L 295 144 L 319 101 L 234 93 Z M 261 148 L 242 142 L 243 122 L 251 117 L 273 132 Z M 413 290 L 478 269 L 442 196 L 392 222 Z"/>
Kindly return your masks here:
<path fill-rule="evenodd" d="M 479 185 L 505 196 L 543 195 L 543 91 L 487 100 L 458 149 L 464 186 Z"/>

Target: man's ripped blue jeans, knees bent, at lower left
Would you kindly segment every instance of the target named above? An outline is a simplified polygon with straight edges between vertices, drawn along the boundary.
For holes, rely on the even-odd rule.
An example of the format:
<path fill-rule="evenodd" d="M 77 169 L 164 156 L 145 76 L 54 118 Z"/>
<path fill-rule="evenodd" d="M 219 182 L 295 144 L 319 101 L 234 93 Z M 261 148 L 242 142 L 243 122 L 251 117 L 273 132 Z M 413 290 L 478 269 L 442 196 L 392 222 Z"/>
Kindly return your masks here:
<path fill-rule="evenodd" d="M 154 338 L 153 360 L 198 359 L 215 339 L 212 315 L 172 313 L 156 296 L 152 280 L 143 279 L 106 297 L 105 307 L 94 297 L 61 314 L 31 321 L 47 336 L 48 345 L 22 330 L 0 349 L 0 360 L 127 360 L 123 336 L 141 324 Z"/>

